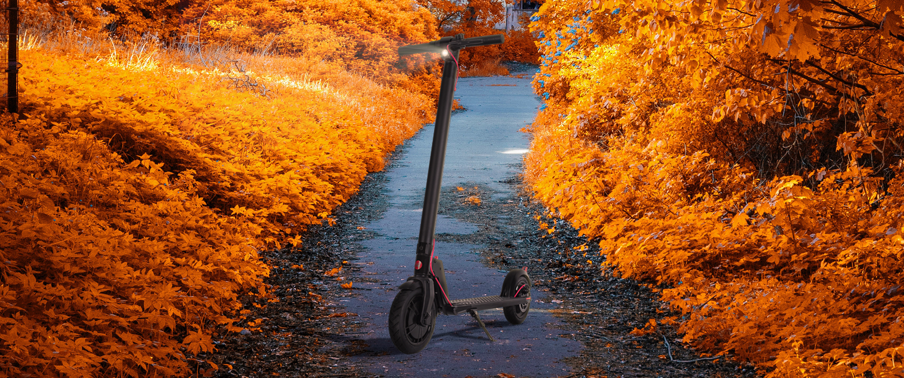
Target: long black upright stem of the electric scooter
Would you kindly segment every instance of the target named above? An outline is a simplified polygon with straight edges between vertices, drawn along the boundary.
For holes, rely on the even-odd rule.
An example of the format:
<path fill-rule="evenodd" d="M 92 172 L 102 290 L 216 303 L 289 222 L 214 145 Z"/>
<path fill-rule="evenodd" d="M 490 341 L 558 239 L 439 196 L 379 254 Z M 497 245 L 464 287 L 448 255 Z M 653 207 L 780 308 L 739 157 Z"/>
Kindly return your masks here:
<path fill-rule="evenodd" d="M 458 37 L 460 39 L 460 37 Z M 443 162 L 446 159 L 446 141 L 448 139 L 449 118 L 452 117 L 452 99 L 455 95 L 458 80 L 459 49 L 449 48 L 444 54 L 443 79 L 439 84 L 439 103 L 437 120 L 433 127 L 433 146 L 430 149 L 430 163 L 427 171 L 427 189 L 424 191 L 423 213 L 420 215 L 420 232 L 418 235 L 417 260 L 414 274 L 416 276 L 430 274 L 434 234 L 437 230 L 437 213 L 439 210 L 439 189 L 443 181 Z"/>

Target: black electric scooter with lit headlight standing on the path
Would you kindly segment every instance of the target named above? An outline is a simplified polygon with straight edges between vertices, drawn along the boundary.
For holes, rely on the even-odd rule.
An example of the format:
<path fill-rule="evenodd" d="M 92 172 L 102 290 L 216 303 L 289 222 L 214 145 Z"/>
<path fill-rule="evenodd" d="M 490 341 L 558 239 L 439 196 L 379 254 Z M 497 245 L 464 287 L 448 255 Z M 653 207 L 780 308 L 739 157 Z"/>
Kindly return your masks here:
<path fill-rule="evenodd" d="M 413 44 L 399 48 L 399 55 L 420 52 L 439 53 L 443 65 L 443 80 L 439 90 L 437 120 L 433 128 L 433 146 L 427 173 L 427 190 L 420 219 L 417 257 L 414 276 L 399 287 L 399 294 L 390 308 L 390 336 L 392 344 L 403 353 L 414 354 L 424 349 L 433 336 L 438 313 L 458 315 L 469 313 L 494 341 L 477 311 L 503 308 L 505 319 L 512 324 L 522 324 L 531 307 L 531 279 L 523 269 L 512 269 L 503 280 L 502 293 L 498 296 L 452 299 L 448 297 L 446 273 L 443 261 L 433 256 L 433 239 L 437 227 L 439 187 L 443 177 L 443 160 L 446 158 L 446 140 L 449 118 L 452 114 L 452 95 L 458 80 L 458 52 L 466 47 L 504 43 L 503 34 L 464 38 L 465 34 L 443 37 L 430 43 Z"/>

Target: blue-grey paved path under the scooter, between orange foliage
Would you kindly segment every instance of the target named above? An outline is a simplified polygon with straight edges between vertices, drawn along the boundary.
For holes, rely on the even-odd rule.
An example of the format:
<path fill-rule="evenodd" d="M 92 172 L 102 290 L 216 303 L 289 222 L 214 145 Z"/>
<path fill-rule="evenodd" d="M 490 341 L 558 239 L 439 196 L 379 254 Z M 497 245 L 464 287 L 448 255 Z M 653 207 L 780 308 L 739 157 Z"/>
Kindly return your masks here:
<path fill-rule="evenodd" d="M 530 77 L 529 75 L 527 77 Z M 529 139 L 520 128 L 535 117 L 539 100 L 531 80 L 515 77 L 480 77 L 458 80 L 456 99 L 466 108 L 451 118 L 443 186 L 475 184 L 488 187 L 494 196 L 512 195 L 506 177 L 516 175 Z M 418 354 L 402 354 L 390 340 L 388 312 L 396 289 L 413 270 L 420 210 L 433 127 L 428 125 L 410 138 L 404 155 L 386 171 L 389 182 L 384 191 L 390 203 L 381 219 L 363 225 L 376 237 L 361 241 L 365 250 L 355 263 L 361 267 L 355 285 L 370 290 L 354 290 L 347 298 L 336 298 L 345 310 L 358 314 L 361 327 L 346 340 L 366 345 L 349 364 L 384 376 L 474 377 L 499 373 L 518 377 L 568 375 L 570 366 L 562 362 L 579 353 L 581 344 L 560 338 L 561 322 L 550 309 L 558 305 L 533 294 L 531 312 L 518 326 L 509 324 L 501 309 L 481 311 L 491 334 L 490 342 L 472 317 L 439 316 L 430 344 Z M 437 233 L 470 234 L 475 224 L 440 215 Z M 504 271 L 486 268 L 476 250 L 483 246 L 438 241 L 436 254 L 443 260 L 450 298 L 498 295 Z M 530 272 L 529 272 L 530 273 Z"/>

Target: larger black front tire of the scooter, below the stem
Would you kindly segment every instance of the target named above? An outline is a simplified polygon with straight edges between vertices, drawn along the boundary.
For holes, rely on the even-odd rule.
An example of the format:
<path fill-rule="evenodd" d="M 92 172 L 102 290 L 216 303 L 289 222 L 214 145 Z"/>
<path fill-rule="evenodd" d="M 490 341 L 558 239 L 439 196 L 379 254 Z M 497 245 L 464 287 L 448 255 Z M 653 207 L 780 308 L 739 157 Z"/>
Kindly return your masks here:
<path fill-rule="evenodd" d="M 433 329 L 437 324 L 437 314 L 430 317 L 429 326 L 421 326 L 417 319 L 420 317 L 421 304 L 424 300 L 422 288 L 404 288 L 399 291 L 390 307 L 390 338 L 404 354 L 415 354 L 426 347 L 433 337 Z M 436 308 L 436 307 L 433 307 Z"/>

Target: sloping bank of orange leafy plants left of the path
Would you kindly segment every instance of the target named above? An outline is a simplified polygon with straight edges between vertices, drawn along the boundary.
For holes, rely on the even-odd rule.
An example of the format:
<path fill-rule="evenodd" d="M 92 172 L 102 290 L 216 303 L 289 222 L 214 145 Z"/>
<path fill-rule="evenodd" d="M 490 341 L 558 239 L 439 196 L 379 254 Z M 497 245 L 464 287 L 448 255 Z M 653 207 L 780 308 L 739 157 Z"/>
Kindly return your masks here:
<path fill-rule="evenodd" d="M 67 51 L 21 52 L 21 120 L 0 123 L 11 376 L 194 373 L 212 329 L 235 330 L 239 294 L 267 295 L 259 248 L 332 221 L 431 110 L 323 65 L 226 72 L 168 52 Z"/>

